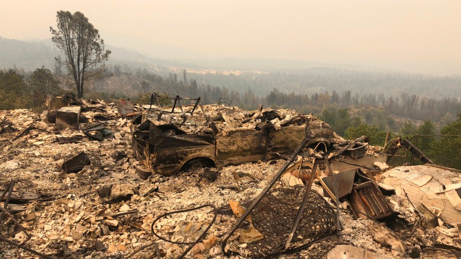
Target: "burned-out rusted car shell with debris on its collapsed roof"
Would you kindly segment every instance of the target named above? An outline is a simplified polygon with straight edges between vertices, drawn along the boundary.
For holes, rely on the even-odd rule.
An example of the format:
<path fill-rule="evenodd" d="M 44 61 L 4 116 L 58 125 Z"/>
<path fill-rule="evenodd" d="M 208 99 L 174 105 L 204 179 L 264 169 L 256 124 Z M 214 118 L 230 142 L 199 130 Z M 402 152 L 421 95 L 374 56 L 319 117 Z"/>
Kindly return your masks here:
<path fill-rule="evenodd" d="M 179 106 L 181 100 L 196 103 Z M 176 97 L 168 110 L 151 105 L 132 134 L 134 154 L 145 167 L 141 171 L 168 176 L 190 168 L 279 158 L 291 154 L 307 132 L 308 145 L 330 146 L 331 127 L 313 116 L 292 110 L 202 106 L 200 98 Z"/>

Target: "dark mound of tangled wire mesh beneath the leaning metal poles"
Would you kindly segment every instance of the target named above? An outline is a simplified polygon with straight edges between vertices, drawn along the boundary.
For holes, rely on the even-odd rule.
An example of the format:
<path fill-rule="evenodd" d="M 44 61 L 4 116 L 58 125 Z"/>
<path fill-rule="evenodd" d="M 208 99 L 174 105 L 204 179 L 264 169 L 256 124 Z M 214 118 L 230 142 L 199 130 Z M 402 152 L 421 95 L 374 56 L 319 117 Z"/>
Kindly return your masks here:
<path fill-rule="evenodd" d="M 264 238 L 248 243 L 245 256 L 266 258 L 284 249 L 285 242 L 301 205 L 304 185 L 286 186 L 270 190 L 250 213 L 254 227 Z M 248 206 L 252 201 L 243 203 Z M 241 229 L 247 229 L 242 224 Z M 291 247 L 305 245 L 336 231 L 336 211 L 315 190 L 310 190 L 306 207 L 294 235 Z M 233 236 L 239 242 L 239 231 Z"/>

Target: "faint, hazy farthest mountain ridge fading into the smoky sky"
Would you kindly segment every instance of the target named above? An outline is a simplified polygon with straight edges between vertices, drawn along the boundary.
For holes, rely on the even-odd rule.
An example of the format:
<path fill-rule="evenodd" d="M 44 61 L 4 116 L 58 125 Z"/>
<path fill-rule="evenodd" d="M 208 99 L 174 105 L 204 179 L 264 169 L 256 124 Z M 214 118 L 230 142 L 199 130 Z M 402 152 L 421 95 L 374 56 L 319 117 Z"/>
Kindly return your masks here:
<path fill-rule="evenodd" d="M 133 39 L 130 39 L 133 40 Z M 135 40 L 136 41 L 136 40 Z M 111 42 L 111 41 L 106 41 Z M 117 41 L 123 43 L 124 41 Z M 302 60 L 271 60 L 271 59 L 239 59 L 203 56 L 198 53 L 179 47 L 151 44 L 139 39 L 139 51 L 107 45 L 112 51 L 107 62 L 112 64 L 127 64 L 131 69 L 146 69 L 156 71 L 158 67 L 184 68 L 186 70 L 215 70 L 215 71 L 265 71 L 265 72 L 298 72 L 312 67 L 333 67 L 339 69 L 373 70 L 374 68 L 352 65 L 327 64 Z M 121 45 L 123 46 L 123 45 Z M 16 40 L 0 36 L 0 69 L 22 68 L 33 71 L 45 66 L 53 70 L 54 57 L 63 54 L 53 45 L 51 39 L 44 40 Z"/>

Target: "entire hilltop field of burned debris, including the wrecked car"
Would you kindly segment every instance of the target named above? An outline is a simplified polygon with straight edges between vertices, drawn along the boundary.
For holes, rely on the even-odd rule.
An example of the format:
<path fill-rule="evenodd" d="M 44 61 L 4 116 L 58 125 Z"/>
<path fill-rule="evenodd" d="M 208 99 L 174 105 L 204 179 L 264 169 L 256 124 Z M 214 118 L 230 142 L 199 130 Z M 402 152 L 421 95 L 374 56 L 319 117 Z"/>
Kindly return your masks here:
<path fill-rule="evenodd" d="M 460 171 L 410 141 L 161 98 L 0 111 L 0 257 L 460 256 Z M 397 148 L 425 164 L 389 167 Z"/>

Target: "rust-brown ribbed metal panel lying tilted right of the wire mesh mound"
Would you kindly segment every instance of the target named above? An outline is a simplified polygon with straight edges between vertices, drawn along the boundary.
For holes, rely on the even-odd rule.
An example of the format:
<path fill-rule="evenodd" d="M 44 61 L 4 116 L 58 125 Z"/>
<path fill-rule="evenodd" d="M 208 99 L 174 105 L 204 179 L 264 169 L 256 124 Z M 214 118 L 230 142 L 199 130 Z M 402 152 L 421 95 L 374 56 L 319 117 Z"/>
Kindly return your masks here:
<path fill-rule="evenodd" d="M 393 215 L 389 203 L 379 188 L 371 181 L 352 187 L 352 192 L 346 196 L 346 199 L 352 210 L 365 213 L 375 220 L 384 220 Z M 356 218 L 366 217 L 355 211 L 352 213 Z"/>

